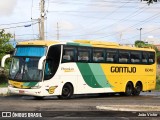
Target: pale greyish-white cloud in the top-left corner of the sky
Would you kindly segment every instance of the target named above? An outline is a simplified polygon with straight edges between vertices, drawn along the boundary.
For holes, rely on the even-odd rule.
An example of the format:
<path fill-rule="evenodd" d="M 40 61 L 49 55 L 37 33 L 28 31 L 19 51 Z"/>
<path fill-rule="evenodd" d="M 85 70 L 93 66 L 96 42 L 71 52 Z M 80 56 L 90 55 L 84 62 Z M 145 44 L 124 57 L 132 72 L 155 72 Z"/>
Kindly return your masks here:
<path fill-rule="evenodd" d="M 17 0 L 0 0 L 0 15 L 9 16 L 13 13 L 14 8 L 17 4 Z"/>

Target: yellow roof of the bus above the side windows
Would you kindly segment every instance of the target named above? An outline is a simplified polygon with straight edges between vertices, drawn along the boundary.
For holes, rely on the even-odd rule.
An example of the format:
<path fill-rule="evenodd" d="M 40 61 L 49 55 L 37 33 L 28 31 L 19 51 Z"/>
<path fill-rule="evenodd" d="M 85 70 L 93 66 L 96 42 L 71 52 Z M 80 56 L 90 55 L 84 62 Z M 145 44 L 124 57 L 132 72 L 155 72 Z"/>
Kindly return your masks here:
<path fill-rule="evenodd" d="M 145 51 L 155 51 L 151 47 L 147 48 L 137 48 L 137 47 L 131 47 L 127 45 L 120 45 L 118 43 L 114 42 L 105 42 L 105 41 L 93 41 L 93 40 L 75 40 L 71 42 L 60 42 L 60 41 L 49 41 L 49 40 L 32 40 L 32 41 L 23 41 L 18 42 L 17 45 L 42 45 L 42 46 L 50 46 L 55 44 L 67 44 L 67 45 L 73 45 L 73 46 L 88 46 L 88 47 L 101 47 L 101 48 L 117 48 L 117 49 L 130 49 L 130 50 L 145 50 Z"/>

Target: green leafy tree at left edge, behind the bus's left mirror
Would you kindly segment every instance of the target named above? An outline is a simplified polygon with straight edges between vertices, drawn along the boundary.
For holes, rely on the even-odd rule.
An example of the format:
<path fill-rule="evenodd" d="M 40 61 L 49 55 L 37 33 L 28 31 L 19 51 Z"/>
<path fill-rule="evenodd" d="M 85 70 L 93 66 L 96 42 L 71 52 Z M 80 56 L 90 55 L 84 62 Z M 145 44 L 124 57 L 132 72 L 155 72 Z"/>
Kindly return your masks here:
<path fill-rule="evenodd" d="M 5 33 L 5 30 L 0 31 L 0 61 L 5 54 L 13 51 L 13 46 L 9 43 L 11 38 L 10 33 Z"/>

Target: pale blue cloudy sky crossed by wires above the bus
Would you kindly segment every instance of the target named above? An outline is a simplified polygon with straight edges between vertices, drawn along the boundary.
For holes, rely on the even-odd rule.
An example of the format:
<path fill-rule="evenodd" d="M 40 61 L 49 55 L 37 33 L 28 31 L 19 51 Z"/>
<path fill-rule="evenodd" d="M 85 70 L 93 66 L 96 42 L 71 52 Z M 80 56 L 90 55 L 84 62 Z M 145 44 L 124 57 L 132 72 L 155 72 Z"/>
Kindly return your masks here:
<path fill-rule="evenodd" d="M 39 38 L 40 0 L 0 0 L 0 29 L 15 40 Z M 31 25 L 31 26 L 28 26 Z M 28 27 L 27 27 L 28 26 Z M 160 2 L 140 0 L 45 0 L 45 39 L 160 44 Z M 58 32 L 57 32 L 58 31 Z"/>

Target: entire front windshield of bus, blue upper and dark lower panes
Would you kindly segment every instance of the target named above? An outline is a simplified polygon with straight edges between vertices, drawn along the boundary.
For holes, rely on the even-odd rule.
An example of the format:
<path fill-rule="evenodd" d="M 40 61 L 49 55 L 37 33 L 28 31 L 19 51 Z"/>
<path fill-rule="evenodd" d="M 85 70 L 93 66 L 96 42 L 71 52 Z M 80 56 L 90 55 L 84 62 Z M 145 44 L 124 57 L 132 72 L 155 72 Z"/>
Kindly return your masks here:
<path fill-rule="evenodd" d="M 39 59 L 46 53 L 45 47 L 17 46 L 9 72 L 9 79 L 16 81 L 40 81 Z"/>

